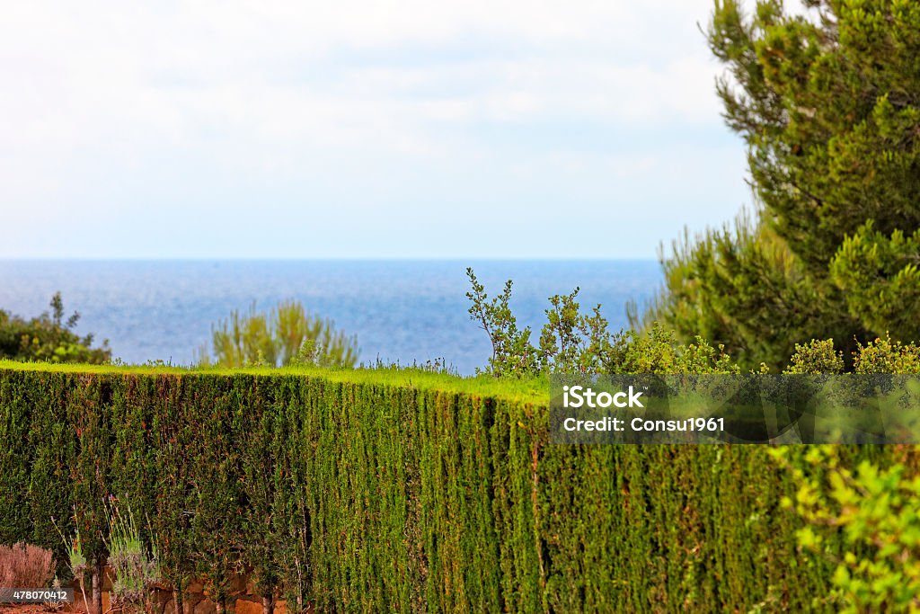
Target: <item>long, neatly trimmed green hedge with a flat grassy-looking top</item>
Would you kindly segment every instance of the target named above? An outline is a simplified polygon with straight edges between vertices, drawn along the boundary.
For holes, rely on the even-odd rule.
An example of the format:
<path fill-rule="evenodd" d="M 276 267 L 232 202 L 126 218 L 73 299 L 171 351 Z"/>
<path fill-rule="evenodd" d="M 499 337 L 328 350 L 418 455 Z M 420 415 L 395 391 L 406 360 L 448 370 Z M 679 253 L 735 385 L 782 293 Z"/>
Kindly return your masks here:
<path fill-rule="evenodd" d="M 798 611 L 826 594 L 765 447 L 550 445 L 545 387 L 0 363 L 0 543 L 63 556 L 52 517 L 75 516 L 103 557 L 115 496 L 180 588 L 220 597 L 247 567 L 317 611 Z"/>

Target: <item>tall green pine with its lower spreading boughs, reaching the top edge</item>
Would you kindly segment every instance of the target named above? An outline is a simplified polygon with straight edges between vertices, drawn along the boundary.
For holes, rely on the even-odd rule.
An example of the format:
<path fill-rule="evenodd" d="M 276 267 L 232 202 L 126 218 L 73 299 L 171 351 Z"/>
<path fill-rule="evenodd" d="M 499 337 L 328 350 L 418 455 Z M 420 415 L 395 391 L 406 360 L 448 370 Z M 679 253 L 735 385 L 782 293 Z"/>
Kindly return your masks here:
<path fill-rule="evenodd" d="M 685 237 L 633 326 L 658 320 L 779 368 L 797 339 L 845 355 L 891 331 L 917 339 L 920 9 L 808 0 L 804 16 L 719 0 L 708 29 L 718 92 L 748 146 L 759 205 L 734 229 Z"/>

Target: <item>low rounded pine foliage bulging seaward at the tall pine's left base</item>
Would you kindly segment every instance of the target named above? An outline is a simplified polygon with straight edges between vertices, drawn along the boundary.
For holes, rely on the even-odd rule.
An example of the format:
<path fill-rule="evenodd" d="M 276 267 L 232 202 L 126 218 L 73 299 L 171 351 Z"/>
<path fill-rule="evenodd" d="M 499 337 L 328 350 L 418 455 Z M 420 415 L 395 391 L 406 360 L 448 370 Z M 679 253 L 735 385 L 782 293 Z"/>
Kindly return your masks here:
<path fill-rule="evenodd" d="M 660 321 L 682 342 L 703 337 L 744 368 L 765 363 L 771 370 L 786 364 L 796 340 L 852 336 L 846 321 L 822 319 L 828 297 L 786 243 L 749 215 L 733 227 L 685 235 L 661 262 L 664 287 L 650 309 L 627 308 L 637 330 Z"/>

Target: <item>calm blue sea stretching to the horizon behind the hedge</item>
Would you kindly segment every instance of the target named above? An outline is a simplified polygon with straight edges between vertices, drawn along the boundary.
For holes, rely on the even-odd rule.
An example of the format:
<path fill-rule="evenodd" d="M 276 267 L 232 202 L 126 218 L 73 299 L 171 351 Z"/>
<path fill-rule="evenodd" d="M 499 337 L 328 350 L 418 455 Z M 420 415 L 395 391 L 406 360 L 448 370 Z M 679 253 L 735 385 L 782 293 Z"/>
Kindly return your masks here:
<path fill-rule="evenodd" d="M 661 283 L 655 261 L 0 261 L 0 309 L 38 315 L 61 291 L 77 331 L 109 339 L 114 356 L 188 365 L 232 309 L 295 298 L 356 334 L 364 363 L 443 358 L 471 374 L 490 350 L 467 313 L 467 266 L 489 295 L 512 279 L 514 312 L 537 335 L 550 295 L 581 286 L 582 307 L 601 303 L 618 330 L 627 301 Z"/>

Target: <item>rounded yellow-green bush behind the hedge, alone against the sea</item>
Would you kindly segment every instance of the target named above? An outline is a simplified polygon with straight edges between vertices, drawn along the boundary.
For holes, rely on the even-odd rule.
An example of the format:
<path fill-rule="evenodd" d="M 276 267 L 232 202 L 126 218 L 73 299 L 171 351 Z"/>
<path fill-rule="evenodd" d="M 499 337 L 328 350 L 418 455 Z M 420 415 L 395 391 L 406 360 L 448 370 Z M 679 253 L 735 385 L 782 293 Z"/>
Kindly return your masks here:
<path fill-rule="evenodd" d="M 282 301 L 269 313 L 249 306 L 212 327 L 214 364 L 223 367 L 319 365 L 352 367 L 358 342 L 335 330 L 330 319 L 309 315 L 298 301 Z M 201 364 L 211 364 L 207 351 Z"/>

